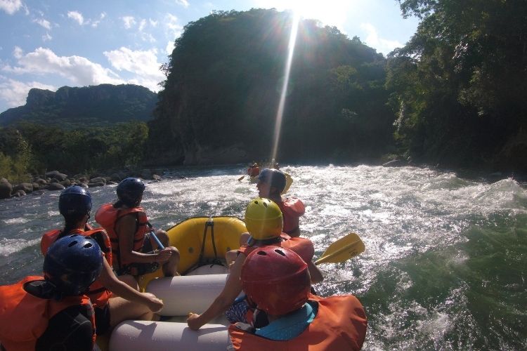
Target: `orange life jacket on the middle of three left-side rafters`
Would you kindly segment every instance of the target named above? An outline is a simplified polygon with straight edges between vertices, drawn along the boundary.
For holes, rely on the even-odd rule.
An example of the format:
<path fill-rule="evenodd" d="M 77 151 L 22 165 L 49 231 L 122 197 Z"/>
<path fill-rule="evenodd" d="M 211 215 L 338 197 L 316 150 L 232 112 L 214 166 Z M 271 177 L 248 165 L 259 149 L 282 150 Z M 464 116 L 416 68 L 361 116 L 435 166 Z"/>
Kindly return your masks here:
<path fill-rule="evenodd" d="M 44 256 L 46 256 L 49 246 L 51 246 L 51 244 L 53 244 L 58 239 L 60 233 L 62 233 L 60 230 L 50 230 L 42 236 L 42 239 L 40 240 L 40 250 Z M 108 265 L 112 267 L 112 245 L 110 244 L 110 238 L 108 238 L 108 234 L 106 234 L 103 228 L 95 228 L 93 230 L 86 231 L 76 229 L 72 230 L 68 234 L 79 234 L 84 237 L 92 237 L 95 239 L 97 244 L 99 244 L 101 251 L 103 251 Z M 93 282 L 93 284 L 91 284 L 90 289 L 86 295 L 91 298 L 91 303 L 93 303 L 93 306 L 102 308 L 108 303 L 108 299 L 112 297 L 112 292 L 106 289 L 97 279 L 95 282 Z"/>

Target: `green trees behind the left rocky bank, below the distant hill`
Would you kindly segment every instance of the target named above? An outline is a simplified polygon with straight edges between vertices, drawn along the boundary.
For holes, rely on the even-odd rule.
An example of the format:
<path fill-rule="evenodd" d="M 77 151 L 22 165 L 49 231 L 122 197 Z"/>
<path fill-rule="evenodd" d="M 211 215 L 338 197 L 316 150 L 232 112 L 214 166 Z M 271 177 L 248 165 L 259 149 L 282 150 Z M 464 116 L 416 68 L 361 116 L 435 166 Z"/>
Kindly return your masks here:
<path fill-rule="evenodd" d="M 59 129 L 21 124 L 0 129 L 0 178 L 27 180 L 27 173 L 59 169 L 68 173 L 137 166 L 148 127 L 131 121 L 112 127 Z"/>

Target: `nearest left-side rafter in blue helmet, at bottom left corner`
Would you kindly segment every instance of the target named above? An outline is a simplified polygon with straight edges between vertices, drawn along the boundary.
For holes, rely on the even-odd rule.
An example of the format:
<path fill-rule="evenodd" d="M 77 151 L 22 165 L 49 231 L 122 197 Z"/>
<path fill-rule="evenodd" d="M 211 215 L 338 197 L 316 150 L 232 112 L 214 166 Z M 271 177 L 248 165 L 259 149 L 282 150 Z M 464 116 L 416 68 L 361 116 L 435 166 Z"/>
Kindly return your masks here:
<path fill-rule="evenodd" d="M 96 241 L 58 239 L 44 258 L 44 277 L 0 286 L 0 349 L 91 351 L 96 324 L 84 293 L 103 270 Z"/>

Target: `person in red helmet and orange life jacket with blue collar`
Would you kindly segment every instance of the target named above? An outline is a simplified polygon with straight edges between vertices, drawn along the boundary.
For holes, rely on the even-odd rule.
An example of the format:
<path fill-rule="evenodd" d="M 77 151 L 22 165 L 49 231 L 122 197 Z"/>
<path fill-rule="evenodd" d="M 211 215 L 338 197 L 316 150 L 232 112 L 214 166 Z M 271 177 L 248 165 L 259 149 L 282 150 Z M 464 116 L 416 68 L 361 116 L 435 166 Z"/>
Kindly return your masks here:
<path fill-rule="evenodd" d="M 367 319 L 352 295 L 320 298 L 309 293 L 309 270 L 293 251 L 265 246 L 247 256 L 241 284 L 269 323 L 229 326 L 228 350 L 360 350 Z"/>

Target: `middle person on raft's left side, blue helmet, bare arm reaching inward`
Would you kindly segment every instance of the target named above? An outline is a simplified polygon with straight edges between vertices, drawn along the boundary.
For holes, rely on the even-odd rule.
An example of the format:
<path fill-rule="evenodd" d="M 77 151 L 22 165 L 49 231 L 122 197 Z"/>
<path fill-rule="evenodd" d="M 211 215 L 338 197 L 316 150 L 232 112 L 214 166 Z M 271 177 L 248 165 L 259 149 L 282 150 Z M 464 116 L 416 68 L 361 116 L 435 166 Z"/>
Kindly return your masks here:
<path fill-rule="evenodd" d="M 49 248 L 58 239 L 78 234 L 95 240 L 105 257 L 100 277 L 86 292 L 95 310 L 97 334 L 110 332 L 126 319 L 156 319 L 154 312 L 161 310 L 162 301 L 151 293 L 140 293 L 136 279 L 131 275 L 119 279 L 115 277 L 108 234 L 103 228 L 93 229 L 87 224 L 91 211 L 91 194 L 88 190 L 76 185 L 67 187 L 58 199 L 58 210 L 64 216 L 64 229 L 50 230 L 42 236 L 42 254 L 47 257 Z"/>

